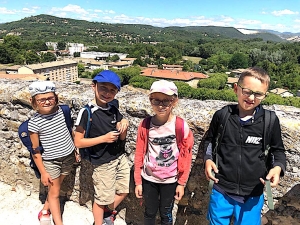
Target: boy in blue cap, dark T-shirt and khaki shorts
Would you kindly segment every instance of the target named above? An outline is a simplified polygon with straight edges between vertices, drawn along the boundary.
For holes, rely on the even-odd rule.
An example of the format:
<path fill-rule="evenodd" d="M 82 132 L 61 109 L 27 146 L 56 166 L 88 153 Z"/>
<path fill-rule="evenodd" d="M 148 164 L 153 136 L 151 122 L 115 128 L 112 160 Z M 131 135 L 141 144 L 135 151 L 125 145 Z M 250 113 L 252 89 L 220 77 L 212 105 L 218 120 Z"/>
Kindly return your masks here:
<path fill-rule="evenodd" d="M 95 225 L 102 225 L 103 220 L 104 224 L 114 224 L 115 208 L 129 193 L 130 168 L 123 148 L 129 123 L 115 106 L 108 104 L 120 88 L 121 81 L 116 73 L 104 70 L 97 74 L 92 84 L 95 99 L 89 103 L 92 111 L 89 138 L 84 138 L 87 110 L 79 112 L 75 123 L 75 145 L 89 147 L 94 166 Z"/>

